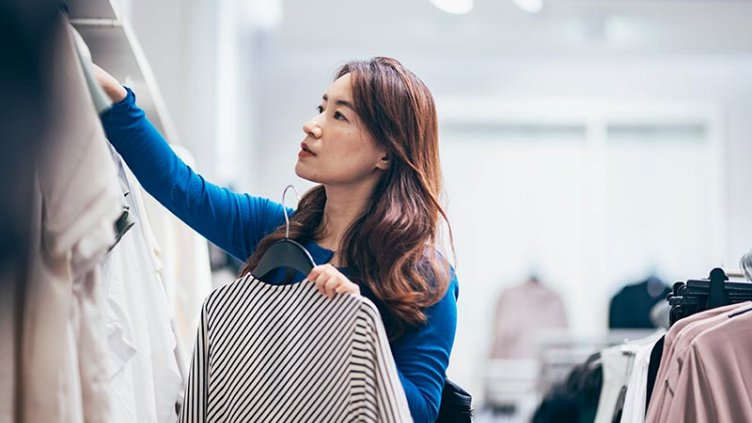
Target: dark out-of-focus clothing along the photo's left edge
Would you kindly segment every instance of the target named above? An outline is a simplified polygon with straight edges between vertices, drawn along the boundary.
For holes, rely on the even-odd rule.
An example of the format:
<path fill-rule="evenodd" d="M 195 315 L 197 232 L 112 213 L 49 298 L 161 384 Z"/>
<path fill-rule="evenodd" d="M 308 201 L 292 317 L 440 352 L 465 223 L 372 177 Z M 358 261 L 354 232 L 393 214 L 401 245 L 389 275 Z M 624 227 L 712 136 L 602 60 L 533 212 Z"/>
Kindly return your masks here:
<path fill-rule="evenodd" d="M 0 421 L 16 421 L 22 309 L 35 210 L 35 169 L 55 102 L 45 62 L 53 51 L 52 4 L 0 2 Z"/>

